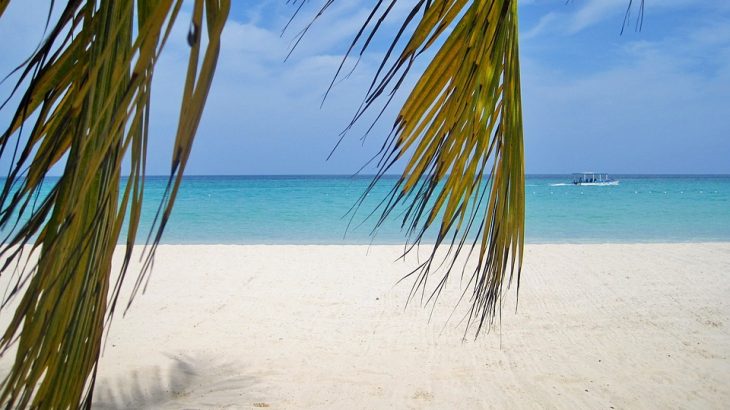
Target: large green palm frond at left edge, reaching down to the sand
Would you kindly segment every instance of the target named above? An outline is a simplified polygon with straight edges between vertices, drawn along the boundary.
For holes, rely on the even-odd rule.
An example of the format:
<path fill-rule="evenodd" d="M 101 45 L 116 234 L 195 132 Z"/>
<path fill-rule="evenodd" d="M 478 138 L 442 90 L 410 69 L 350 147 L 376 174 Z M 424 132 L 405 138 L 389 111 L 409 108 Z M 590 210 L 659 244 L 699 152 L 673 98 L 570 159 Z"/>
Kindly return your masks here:
<path fill-rule="evenodd" d="M 0 15 L 7 4 L 0 1 Z M 3 353 L 17 346 L 0 391 L 7 408 L 90 407 L 102 335 L 137 237 L 154 67 L 181 5 L 69 0 L 18 71 L 13 93 L 20 102 L 0 135 L 0 156 L 12 156 L 0 192 L 0 228 L 9 231 L 0 248 L 2 273 L 21 263 L 27 244 L 38 259 L 18 271 L 18 285 L 3 301 L 20 297 L 0 338 Z M 170 179 L 146 266 L 172 210 L 229 6 L 227 0 L 193 6 Z M 204 27 L 207 46 L 201 44 Z M 125 156 L 129 179 L 123 184 Z M 36 203 L 49 170 L 64 158 L 62 176 Z M 111 259 L 127 216 L 124 264 L 115 280 Z"/>

